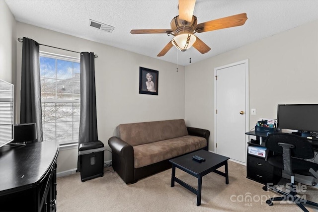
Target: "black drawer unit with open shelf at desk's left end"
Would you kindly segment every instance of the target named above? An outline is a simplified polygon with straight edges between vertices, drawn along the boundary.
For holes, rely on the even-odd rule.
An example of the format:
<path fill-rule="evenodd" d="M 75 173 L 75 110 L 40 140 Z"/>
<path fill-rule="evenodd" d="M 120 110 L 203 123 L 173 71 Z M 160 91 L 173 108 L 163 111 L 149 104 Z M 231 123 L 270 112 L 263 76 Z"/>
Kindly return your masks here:
<path fill-rule="evenodd" d="M 262 140 L 265 141 L 266 133 L 255 133 L 255 131 L 247 132 L 246 135 L 256 136 L 256 140 L 248 142 L 248 146 L 264 146 L 264 142 L 259 144 Z M 246 164 L 247 178 L 256 182 L 266 184 L 276 184 L 281 178 L 281 170 L 273 167 L 265 158 L 256 155 L 248 154 L 247 151 L 247 164 Z"/>

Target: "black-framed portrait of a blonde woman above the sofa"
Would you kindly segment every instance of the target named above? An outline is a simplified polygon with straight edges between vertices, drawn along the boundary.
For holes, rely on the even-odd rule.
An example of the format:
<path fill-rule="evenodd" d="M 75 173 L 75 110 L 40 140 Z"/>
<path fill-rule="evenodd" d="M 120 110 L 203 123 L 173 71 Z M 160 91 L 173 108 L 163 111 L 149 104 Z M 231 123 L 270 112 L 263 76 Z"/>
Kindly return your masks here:
<path fill-rule="evenodd" d="M 139 67 L 139 93 L 158 95 L 159 71 Z"/>

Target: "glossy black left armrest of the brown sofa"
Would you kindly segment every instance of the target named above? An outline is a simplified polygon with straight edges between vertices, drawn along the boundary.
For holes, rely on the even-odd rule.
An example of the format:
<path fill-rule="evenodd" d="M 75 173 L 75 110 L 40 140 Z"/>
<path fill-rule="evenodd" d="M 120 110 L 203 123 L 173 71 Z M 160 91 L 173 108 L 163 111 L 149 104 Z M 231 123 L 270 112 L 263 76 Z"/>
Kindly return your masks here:
<path fill-rule="evenodd" d="M 134 181 L 134 148 L 118 137 L 111 137 L 108 145 L 112 150 L 112 166 L 126 184 Z"/>

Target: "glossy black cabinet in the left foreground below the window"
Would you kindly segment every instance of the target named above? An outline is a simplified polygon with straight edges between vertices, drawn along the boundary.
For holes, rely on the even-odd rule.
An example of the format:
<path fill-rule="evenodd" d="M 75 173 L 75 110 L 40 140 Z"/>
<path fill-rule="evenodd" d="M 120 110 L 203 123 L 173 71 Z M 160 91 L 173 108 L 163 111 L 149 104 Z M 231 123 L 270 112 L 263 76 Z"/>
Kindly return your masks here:
<path fill-rule="evenodd" d="M 0 148 L 0 211 L 55 212 L 55 141 Z"/>

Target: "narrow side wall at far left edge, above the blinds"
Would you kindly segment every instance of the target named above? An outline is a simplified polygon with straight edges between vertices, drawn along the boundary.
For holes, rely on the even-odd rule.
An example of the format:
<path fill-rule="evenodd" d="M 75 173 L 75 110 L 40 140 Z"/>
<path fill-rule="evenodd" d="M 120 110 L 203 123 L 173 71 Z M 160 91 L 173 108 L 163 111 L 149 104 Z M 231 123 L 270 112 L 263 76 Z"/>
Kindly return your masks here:
<path fill-rule="evenodd" d="M 16 21 L 5 1 L 0 1 L 0 79 L 14 83 Z"/>

